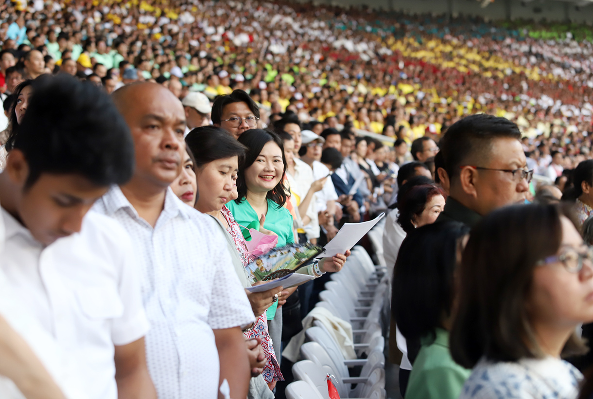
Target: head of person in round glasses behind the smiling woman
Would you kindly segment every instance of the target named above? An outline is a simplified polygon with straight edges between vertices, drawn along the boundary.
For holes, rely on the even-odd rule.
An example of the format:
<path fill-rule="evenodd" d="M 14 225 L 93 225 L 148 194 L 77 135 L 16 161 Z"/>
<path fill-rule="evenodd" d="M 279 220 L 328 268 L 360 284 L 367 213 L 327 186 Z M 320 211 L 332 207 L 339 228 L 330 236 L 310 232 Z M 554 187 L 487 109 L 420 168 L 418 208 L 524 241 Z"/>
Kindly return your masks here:
<path fill-rule="evenodd" d="M 237 139 L 243 132 L 256 128 L 259 118 L 259 107 L 243 90 L 219 96 L 212 105 L 212 124 Z"/>

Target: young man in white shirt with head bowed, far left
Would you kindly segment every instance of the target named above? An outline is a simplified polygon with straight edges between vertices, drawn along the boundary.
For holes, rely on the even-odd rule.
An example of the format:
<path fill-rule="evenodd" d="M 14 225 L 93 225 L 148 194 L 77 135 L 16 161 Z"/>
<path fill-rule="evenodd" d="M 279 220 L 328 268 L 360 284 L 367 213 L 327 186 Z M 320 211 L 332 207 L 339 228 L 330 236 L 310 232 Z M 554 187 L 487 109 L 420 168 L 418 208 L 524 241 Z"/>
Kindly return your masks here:
<path fill-rule="evenodd" d="M 2 271 L 89 398 L 155 399 L 129 237 L 87 214 L 111 184 L 132 176 L 129 131 L 100 88 L 66 75 L 33 85 L 0 175 Z"/>

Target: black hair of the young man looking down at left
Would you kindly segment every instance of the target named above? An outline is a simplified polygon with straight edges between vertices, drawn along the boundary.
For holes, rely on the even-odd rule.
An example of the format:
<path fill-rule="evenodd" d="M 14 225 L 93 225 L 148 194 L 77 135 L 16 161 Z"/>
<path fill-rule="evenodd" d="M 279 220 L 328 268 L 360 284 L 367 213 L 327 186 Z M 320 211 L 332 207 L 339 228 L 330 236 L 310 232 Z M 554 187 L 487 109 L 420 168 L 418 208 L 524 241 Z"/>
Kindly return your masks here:
<path fill-rule="evenodd" d="M 25 186 L 42 173 L 76 173 L 98 186 L 122 185 L 134 170 L 134 144 L 111 97 L 69 75 L 37 78 L 18 133 L 7 150 L 28 163 Z"/>

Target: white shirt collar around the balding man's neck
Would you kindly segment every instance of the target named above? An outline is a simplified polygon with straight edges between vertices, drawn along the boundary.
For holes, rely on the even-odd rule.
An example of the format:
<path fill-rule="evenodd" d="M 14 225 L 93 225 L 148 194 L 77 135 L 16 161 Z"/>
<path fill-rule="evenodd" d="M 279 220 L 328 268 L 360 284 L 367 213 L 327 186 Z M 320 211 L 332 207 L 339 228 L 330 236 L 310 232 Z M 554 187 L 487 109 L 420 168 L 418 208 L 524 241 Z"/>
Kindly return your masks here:
<path fill-rule="evenodd" d="M 113 216 L 113 214 L 117 211 L 124 210 L 136 221 L 148 224 L 138 215 L 138 212 L 133 207 L 133 205 L 130 204 L 130 201 L 127 200 L 126 196 L 123 195 L 122 189 L 120 189 L 119 186 L 111 187 L 109 192 L 103 195 L 101 200 L 105 205 L 106 214 L 108 216 Z M 155 224 L 155 229 L 157 226 L 167 223 L 168 220 L 171 220 L 177 216 L 183 217 L 185 219 L 191 219 L 189 211 L 190 209 L 191 208 L 181 202 L 181 200 L 177 198 L 177 195 L 174 194 L 173 190 L 168 187 L 167 192 L 165 192 L 165 205 L 162 208 L 160 216 L 158 217 L 157 224 Z"/>

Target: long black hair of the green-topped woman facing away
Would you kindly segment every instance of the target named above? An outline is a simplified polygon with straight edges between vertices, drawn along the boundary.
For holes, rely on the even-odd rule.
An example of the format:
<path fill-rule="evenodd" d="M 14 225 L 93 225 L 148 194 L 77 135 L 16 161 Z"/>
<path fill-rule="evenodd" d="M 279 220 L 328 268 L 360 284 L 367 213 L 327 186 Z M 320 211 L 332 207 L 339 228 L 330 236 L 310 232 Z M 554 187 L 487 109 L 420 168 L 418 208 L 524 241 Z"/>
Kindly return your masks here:
<path fill-rule="evenodd" d="M 470 228 L 457 221 L 433 223 L 410 232 L 397 255 L 391 309 L 414 362 L 420 338 L 436 338 L 451 315 L 460 239 Z M 430 248 L 430 251 L 427 249 Z"/>

